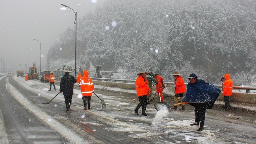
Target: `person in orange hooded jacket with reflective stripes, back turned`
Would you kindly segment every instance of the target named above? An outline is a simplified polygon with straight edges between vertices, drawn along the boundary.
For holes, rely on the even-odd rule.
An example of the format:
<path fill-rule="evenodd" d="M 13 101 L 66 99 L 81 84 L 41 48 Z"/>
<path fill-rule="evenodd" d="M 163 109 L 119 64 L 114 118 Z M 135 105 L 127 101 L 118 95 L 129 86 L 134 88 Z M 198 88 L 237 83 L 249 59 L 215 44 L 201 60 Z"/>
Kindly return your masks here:
<path fill-rule="evenodd" d="M 83 110 L 87 110 L 87 104 L 88 104 L 88 109 L 90 110 L 91 96 L 93 95 L 93 92 L 94 92 L 94 85 L 93 85 L 93 80 L 89 78 L 89 73 L 87 70 L 83 71 L 83 77 L 78 79 L 77 82 L 78 82 L 78 85 L 80 85 L 81 93 L 83 95 L 83 106 L 84 106 Z"/>

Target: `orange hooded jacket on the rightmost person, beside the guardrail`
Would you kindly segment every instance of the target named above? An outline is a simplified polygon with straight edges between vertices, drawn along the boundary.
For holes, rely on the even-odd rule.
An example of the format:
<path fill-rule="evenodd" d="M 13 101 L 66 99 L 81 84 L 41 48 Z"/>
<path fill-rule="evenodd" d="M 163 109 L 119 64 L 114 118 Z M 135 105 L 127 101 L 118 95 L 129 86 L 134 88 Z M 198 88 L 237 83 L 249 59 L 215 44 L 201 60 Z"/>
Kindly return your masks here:
<path fill-rule="evenodd" d="M 225 81 L 222 86 L 223 91 L 221 92 L 221 94 L 223 94 L 224 96 L 231 96 L 233 90 L 233 81 L 230 79 L 230 74 L 225 74 L 224 78 Z"/>

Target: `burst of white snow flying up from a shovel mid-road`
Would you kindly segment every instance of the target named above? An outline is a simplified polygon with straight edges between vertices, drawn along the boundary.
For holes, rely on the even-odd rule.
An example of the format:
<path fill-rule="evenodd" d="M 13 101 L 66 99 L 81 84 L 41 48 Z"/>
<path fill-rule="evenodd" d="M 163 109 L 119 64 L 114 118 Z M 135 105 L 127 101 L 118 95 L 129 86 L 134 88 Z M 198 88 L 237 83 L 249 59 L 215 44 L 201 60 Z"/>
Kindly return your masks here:
<path fill-rule="evenodd" d="M 166 106 L 159 106 L 159 111 L 156 113 L 156 116 L 152 120 L 152 126 L 159 126 L 163 123 L 164 117 L 168 115 L 168 109 Z"/>

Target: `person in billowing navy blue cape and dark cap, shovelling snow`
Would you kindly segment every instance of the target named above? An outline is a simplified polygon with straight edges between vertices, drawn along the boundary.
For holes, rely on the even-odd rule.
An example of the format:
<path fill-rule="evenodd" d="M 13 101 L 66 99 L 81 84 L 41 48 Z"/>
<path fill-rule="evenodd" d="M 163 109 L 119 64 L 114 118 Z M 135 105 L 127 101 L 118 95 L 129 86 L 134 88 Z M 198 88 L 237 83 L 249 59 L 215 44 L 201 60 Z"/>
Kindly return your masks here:
<path fill-rule="evenodd" d="M 190 74 L 189 83 L 187 84 L 187 93 L 182 102 L 186 102 L 195 107 L 195 123 L 191 126 L 197 125 L 197 131 L 204 130 L 204 119 L 206 108 L 212 108 L 217 100 L 221 90 L 216 86 L 198 79 L 196 74 Z"/>

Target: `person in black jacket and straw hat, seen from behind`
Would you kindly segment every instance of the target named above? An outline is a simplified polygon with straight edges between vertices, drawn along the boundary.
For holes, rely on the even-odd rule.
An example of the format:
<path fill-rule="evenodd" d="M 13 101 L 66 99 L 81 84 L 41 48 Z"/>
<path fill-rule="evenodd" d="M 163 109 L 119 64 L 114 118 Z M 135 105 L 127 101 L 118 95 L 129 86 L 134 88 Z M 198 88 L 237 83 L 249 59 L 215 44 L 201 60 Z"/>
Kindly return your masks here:
<path fill-rule="evenodd" d="M 61 77 L 59 93 L 63 92 L 66 104 L 66 112 L 69 112 L 70 104 L 72 102 L 74 83 L 76 83 L 76 78 L 69 75 L 69 69 L 63 70 L 65 72 L 64 76 Z"/>

